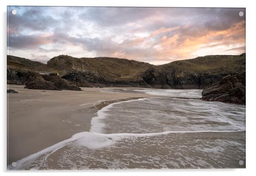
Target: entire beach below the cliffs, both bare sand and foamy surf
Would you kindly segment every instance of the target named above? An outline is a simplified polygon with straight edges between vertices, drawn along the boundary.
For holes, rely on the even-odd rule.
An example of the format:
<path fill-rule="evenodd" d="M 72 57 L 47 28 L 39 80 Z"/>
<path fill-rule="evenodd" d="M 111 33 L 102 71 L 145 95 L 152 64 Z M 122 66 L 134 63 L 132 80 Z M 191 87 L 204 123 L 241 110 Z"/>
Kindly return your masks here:
<path fill-rule="evenodd" d="M 8 170 L 245 168 L 245 106 L 202 90 L 8 88 Z"/>

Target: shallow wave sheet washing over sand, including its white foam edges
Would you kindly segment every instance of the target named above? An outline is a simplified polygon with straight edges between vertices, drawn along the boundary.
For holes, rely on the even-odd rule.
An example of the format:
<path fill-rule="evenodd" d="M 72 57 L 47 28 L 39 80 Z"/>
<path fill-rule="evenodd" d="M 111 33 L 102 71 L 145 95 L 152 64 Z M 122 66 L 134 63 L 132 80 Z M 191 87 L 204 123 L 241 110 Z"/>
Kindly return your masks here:
<path fill-rule="evenodd" d="M 149 92 L 156 93 L 156 91 Z M 175 93 L 168 91 L 165 94 L 182 96 L 182 93 L 184 93 L 183 90 Z M 196 96 L 198 95 L 190 97 Z M 47 159 L 69 143 L 86 148 L 104 148 L 113 146 L 127 137 L 148 137 L 171 133 L 240 132 L 245 130 L 244 117 L 244 106 L 220 102 L 175 98 L 141 98 L 115 102 L 97 112 L 97 116 L 91 119 L 89 132 L 77 133 L 67 140 L 20 159 L 16 162 L 15 168 L 9 165 L 8 170 L 23 169 L 43 154 L 47 154 L 45 157 Z M 187 125 L 184 126 L 184 124 Z"/>

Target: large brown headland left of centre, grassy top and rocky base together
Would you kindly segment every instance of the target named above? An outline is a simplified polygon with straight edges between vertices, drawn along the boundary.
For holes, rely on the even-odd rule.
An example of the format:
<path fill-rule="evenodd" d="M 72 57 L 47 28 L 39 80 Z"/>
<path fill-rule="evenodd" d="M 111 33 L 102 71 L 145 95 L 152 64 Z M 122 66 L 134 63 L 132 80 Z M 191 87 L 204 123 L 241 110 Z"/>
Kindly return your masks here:
<path fill-rule="evenodd" d="M 68 55 L 52 58 L 47 66 L 59 69 L 63 79 L 83 87 L 151 87 L 139 75 L 154 67 L 149 63 L 128 59 L 73 58 Z"/>

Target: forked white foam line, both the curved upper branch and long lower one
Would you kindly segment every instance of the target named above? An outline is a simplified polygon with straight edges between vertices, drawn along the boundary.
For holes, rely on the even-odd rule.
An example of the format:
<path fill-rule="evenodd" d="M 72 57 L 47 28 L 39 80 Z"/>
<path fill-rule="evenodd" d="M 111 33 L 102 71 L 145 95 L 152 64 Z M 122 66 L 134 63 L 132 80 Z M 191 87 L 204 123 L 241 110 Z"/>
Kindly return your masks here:
<path fill-rule="evenodd" d="M 148 98 L 140 98 L 127 100 L 123 102 L 132 102 L 132 101 L 141 101 Z M 97 116 L 91 119 L 91 129 L 90 132 L 80 132 L 73 135 L 71 138 L 67 140 L 63 140 L 59 143 L 56 143 L 48 148 L 45 148 L 37 153 L 31 154 L 28 157 L 18 160 L 17 166 L 14 168 L 11 165 L 7 166 L 8 170 L 20 170 L 24 169 L 26 165 L 33 162 L 38 157 L 51 152 L 53 154 L 55 151 L 60 148 L 66 146 L 68 143 L 75 141 L 78 145 L 86 146 L 88 148 L 101 148 L 105 146 L 113 145 L 117 140 L 120 140 L 124 137 L 144 137 L 144 136 L 155 136 L 155 135 L 168 135 L 171 133 L 202 133 L 202 132 L 242 132 L 245 130 L 203 130 L 203 131 L 165 131 L 165 132 L 156 132 L 156 133 L 112 133 L 112 134 L 103 134 L 102 130 L 104 129 L 105 124 L 100 122 L 100 119 L 106 117 L 106 111 L 113 107 L 115 104 L 120 104 L 123 102 L 115 102 L 103 107 L 101 110 L 97 112 Z M 48 154 L 45 159 L 50 155 Z"/>

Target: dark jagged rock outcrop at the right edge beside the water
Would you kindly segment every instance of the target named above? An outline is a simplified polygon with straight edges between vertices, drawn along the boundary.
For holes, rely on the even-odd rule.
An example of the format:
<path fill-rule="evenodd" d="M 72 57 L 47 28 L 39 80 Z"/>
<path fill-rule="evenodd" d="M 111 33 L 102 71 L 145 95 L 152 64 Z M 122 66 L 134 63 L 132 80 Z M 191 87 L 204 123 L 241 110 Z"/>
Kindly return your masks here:
<path fill-rule="evenodd" d="M 202 91 L 202 99 L 245 104 L 245 74 L 222 77 L 221 80 Z"/>

